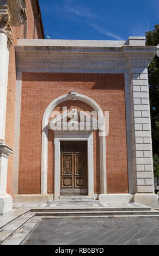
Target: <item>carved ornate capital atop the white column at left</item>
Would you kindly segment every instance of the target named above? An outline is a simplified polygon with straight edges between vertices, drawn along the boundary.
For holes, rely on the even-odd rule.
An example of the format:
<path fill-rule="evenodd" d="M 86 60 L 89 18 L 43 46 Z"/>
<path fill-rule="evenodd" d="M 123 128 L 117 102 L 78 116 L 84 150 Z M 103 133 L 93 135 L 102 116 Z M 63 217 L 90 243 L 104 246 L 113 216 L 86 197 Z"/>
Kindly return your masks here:
<path fill-rule="evenodd" d="M 7 35 L 7 45 L 9 48 L 13 42 L 13 39 L 11 38 L 12 28 L 13 26 L 11 25 L 11 20 L 9 19 L 9 16 L 2 15 L 0 17 L 0 32 L 3 32 Z"/>

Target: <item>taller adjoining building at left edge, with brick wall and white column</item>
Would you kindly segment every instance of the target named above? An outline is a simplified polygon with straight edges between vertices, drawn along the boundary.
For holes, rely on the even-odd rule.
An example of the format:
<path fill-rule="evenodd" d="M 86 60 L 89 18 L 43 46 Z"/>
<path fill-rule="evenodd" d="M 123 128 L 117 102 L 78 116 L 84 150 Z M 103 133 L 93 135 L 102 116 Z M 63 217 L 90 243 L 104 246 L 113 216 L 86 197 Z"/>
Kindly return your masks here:
<path fill-rule="evenodd" d="M 17 79 L 15 45 L 18 39 L 45 38 L 42 20 L 38 16 L 38 1 L 0 1 L 0 214 L 10 210 L 13 201 L 11 195 Z"/>

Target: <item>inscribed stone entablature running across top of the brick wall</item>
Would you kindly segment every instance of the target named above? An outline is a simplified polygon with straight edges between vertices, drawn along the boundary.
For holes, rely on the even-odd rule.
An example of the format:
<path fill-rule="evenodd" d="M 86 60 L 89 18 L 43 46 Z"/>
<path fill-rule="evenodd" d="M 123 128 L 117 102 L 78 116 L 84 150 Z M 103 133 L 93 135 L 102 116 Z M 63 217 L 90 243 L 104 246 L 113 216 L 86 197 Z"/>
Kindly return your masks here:
<path fill-rule="evenodd" d="M 53 46 L 51 46 L 51 41 Z M 111 43 L 110 45 L 106 43 L 107 47 L 88 47 L 88 43 L 85 41 L 85 44 L 83 42 L 83 46 L 79 47 L 78 41 L 76 46 L 71 46 L 71 43 L 68 46 L 68 42 L 66 44 L 65 40 L 59 41 L 61 46 L 56 46 L 54 40 L 50 40 L 49 45 L 47 43 L 45 45 L 43 40 L 38 40 L 36 46 L 36 40 L 23 40 L 23 45 L 22 40 L 18 40 L 19 45 L 16 46 L 17 71 L 23 71 L 23 68 L 43 68 L 44 72 L 45 68 L 129 69 L 130 66 L 147 68 L 157 51 L 157 46 L 141 44 L 134 46 L 134 43 L 133 45 L 117 44 L 119 47 L 111 47 Z M 145 42 L 143 39 L 140 41 Z M 32 71 L 30 70 L 30 72 Z"/>

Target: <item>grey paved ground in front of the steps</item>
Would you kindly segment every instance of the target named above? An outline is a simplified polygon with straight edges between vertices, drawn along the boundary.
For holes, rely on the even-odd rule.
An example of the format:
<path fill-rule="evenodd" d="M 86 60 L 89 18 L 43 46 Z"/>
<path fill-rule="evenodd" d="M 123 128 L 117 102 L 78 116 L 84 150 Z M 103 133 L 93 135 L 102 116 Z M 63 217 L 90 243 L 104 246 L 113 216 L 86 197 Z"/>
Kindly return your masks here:
<path fill-rule="evenodd" d="M 159 219 L 42 219 L 25 245 L 159 245 Z"/>

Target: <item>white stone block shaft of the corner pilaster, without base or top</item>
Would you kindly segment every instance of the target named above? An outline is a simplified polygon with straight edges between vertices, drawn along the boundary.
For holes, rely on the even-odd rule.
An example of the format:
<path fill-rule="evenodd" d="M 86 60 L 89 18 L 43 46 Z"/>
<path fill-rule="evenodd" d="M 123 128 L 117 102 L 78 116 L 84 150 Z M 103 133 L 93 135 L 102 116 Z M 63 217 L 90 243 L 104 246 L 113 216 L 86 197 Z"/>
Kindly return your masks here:
<path fill-rule="evenodd" d="M 148 70 L 131 68 L 136 192 L 154 192 Z"/>

